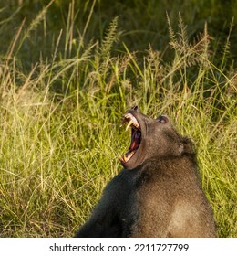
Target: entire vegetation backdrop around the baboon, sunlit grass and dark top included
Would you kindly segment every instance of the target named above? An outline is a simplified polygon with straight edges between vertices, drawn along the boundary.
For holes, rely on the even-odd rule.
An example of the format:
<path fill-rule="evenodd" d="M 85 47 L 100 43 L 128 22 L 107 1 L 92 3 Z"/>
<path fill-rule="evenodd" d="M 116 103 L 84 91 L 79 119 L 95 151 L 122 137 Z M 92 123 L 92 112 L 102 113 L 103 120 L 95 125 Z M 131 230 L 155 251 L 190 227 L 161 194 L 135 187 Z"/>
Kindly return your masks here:
<path fill-rule="evenodd" d="M 0 0 L 0 237 L 72 237 L 167 113 L 198 148 L 220 237 L 237 237 L 237 1 Z"/>

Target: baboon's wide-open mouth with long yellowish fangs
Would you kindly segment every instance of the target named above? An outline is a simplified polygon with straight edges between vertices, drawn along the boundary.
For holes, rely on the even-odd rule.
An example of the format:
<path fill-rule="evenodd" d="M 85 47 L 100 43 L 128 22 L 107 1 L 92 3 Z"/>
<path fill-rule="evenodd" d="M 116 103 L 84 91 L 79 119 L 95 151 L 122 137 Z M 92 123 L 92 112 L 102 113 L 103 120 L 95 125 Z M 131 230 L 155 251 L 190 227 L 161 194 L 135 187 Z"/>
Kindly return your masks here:
<path fill-rule="evenodd" d="M 136 119 L 136 117 L 134 115 L 132 115 L 129 112 L 127 112 L 124 115 L 122 124 L 123 123 L 128 123 L 127 127 L 126 127 L 126 131 L 128 131 L 129 127 L 131 128 L 131 142 L 130 142 L 130 146 L 129 146 L 129 151 L 127 153 L 125 153 L 124 155 L 118 156 L 119 160 L 123 164 L 125 164 L 125 163 L 129 162 L 131 157 L 136 154 L 136 151 L 139 148 L 139 144 L 141 141 L 141 131 L 140 131 L 140 126 L 139 126 L 138 120 Z"/>

